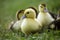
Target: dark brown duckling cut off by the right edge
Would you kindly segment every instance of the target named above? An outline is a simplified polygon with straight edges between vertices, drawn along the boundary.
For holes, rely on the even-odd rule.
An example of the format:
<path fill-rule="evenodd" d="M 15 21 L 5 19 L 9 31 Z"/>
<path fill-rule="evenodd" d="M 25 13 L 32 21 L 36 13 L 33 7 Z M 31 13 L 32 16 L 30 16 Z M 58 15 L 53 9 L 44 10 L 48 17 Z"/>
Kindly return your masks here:
<path fill-rule="evenodd" d="M 60 10 L 58 10 L 57 19 L 48 25 L 48 29 L 60 30 Z"/>

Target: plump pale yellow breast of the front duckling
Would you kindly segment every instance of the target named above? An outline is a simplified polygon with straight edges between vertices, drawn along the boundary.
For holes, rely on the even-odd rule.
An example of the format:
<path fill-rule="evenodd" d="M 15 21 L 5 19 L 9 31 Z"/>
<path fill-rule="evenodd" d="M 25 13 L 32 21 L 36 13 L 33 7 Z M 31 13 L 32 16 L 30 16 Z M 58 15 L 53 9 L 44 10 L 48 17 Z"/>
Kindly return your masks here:
<path fill-rule="evenodd" d="M 33 19 L 24 19 L 21 24 L 21 30 L 23 33 L 33 32 L 39 30 L 39 24 Z"/>

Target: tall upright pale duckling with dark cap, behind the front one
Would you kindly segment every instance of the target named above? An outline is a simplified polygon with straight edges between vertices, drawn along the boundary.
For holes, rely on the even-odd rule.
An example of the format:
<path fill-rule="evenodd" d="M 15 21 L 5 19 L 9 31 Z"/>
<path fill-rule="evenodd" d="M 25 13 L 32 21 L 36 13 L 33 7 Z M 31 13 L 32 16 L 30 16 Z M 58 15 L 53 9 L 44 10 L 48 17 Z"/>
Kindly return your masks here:
<path fill-rule="evenodd" d="M 46 4 L 39 5 L 39 14 L 37 16 L 37 20 L 40 22 L 42 27 L 47 26 L 49 23 L 54 21 L 54 18 L 47 10 Z"/>

